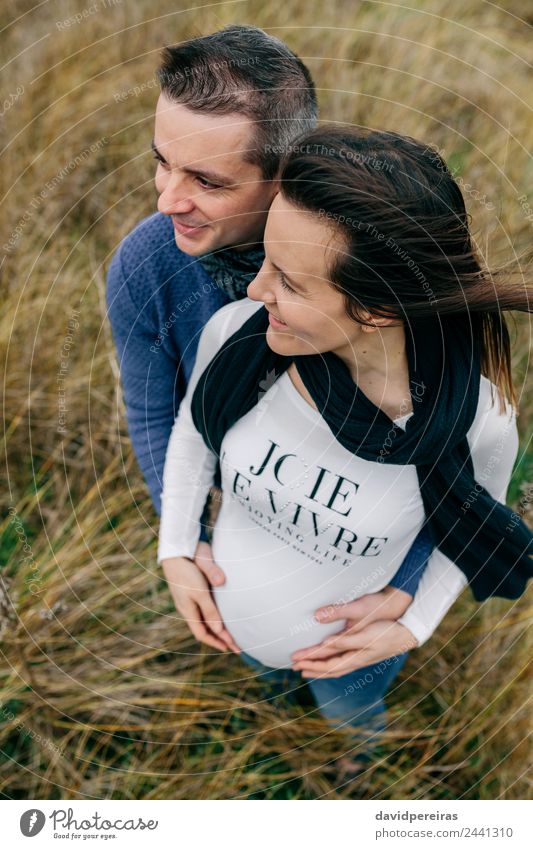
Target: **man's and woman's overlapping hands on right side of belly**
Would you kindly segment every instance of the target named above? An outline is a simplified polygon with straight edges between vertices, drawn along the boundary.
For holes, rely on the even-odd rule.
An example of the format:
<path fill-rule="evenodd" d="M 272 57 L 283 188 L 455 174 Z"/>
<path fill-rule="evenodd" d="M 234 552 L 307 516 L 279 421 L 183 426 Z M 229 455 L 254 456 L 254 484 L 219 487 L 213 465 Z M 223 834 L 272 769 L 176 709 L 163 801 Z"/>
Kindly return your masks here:
<path fill-rule="evenodd" d="M 418 641 L 411 631 L 395 621 L 412 600 L 403 590 L 385 587 L 357 601 L 319 608 L 315 613 L 319 622 L 345 619 L 346 627 L 321 643 L 294 652 L 293 669 L 304 677 L 325 673 L 323 677 L 337 678 L 416 648 Z"/>

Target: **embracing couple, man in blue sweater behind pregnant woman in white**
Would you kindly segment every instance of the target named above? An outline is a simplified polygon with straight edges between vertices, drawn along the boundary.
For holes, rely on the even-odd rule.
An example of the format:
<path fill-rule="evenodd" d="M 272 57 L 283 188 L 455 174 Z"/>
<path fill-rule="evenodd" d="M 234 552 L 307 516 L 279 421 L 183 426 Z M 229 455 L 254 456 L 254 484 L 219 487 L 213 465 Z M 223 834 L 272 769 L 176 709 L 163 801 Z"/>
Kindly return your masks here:
<path fill-rule="evenodd" d="M 530 299 L 480 263 L 434 148 L 317 126 L 278 39 L 229 27 L 158 77 L 158 213 L 108 275 L 158 562 L 199 642 L 375 732 L 466 585 L 531 574 L 503 314 Z"/>

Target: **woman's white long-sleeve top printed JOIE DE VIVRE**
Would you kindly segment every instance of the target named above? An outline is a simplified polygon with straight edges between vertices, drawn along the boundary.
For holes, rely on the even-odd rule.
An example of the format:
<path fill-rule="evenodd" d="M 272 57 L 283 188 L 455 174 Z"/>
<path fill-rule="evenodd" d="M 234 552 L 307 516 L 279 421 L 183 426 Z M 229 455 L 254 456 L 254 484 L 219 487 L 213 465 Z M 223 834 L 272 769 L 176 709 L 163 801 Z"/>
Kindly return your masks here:
<path fill-rule="evenodd" d="M 217 458 L 191 417 L 196 383 L 226 339 L 261 306 L 247 298 L 228 304 L 200 337 L 167 449 L 159 563 L 194 556 L 213 484 Z M 518 434 L 511 406 L 500 414 L 492 389 L 482 377 L 467 439 L 476 481 L 504 502 Z M 405 426 L 409 415 L 396 422 Z M 220 466 L 223 496 L 213 557 L 226 582 L 214 588 L 215 603 L 243 651 L 267 666 L 290 667 L 294 651 L 346 624 L 316 622 L 318 607 L 378 592 L 397 572 L 424 521 L 416 467 L 350 453 L 287 372 L 278 379 L 265 374 L 256 406 L 224 436 Z M 422 644 L 466 583 L 464 573 L 435 550 L 399 622 Z"/>

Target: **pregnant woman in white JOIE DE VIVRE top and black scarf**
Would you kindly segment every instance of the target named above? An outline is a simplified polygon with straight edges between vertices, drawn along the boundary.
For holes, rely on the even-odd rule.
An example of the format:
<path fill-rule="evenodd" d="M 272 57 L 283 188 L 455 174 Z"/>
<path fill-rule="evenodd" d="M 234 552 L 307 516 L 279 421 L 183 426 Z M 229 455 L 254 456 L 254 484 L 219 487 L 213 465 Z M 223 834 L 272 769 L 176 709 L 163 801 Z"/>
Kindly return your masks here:
<path fill-rule="evenodd" d="M 394 133 L 302 138 L 265 253 L 248 298 L 202 333 L 158 561 L 182 612 L 208 593 L 192 558 L 220 463 L 214 595 L 241 657 L 286 686 L 305 676 L 330 720 L 382 727 L 408 650 L 461 590 L 516 598 L 530 577 L 531 533 L 505 507 L 518 438 L 502 315 L 528 294 L 481 268 L 440 156 Z M 397 622 L 361 644 L 346 620 L 316 620 L 385 587 L 424 525 L 435 549 Z M 369 636 L 387 650 L 365 665 Z"/>

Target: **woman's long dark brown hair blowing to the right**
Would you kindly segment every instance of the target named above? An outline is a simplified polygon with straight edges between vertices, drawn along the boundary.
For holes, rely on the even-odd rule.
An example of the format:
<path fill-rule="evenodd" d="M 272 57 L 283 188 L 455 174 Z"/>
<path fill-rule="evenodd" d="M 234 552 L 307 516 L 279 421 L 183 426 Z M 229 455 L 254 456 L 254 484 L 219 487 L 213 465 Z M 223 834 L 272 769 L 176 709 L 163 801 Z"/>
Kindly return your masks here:
<path fill-rule="evenodd" d="M 531 288 L 477 257 L 461 190 L 431 147 L 396 133 L 320 127 L 284 160 L 281 193 L 343 236 L 330 269 L 348 314 L 405 322 L 467 312 L 482 373 L 517 409 L 504 311 L 531 312 Z"/>

